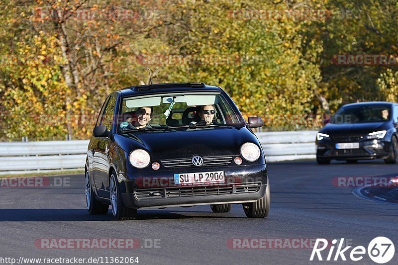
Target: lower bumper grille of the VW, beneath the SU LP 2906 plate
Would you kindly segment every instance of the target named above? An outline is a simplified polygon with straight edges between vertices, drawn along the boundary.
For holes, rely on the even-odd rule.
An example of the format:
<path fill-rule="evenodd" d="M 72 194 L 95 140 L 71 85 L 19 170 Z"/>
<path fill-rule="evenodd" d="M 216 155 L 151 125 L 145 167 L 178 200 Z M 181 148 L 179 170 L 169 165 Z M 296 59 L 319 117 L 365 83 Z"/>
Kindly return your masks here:
<path fill-rule="evenodd" d="M 211 186 L 171 187 L 135 190 L 137 199 L 177 198 L 192 196 L 211 196 L 223 194 L 253 193 L 260 190 L 261 182 L 218 184 Z"/>

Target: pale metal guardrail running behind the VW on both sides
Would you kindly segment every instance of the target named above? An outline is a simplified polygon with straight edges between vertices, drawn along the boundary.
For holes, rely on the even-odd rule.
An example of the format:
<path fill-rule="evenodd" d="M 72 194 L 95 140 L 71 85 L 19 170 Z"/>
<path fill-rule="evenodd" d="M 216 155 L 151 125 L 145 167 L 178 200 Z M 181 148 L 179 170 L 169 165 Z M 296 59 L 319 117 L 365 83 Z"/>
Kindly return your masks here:
<path fill-rule="evenodd" d="M 256 134 L 268 162 L 315 159 L 316 131 Z M 0 175 L 81 169 L 89 140 L 0 143 Z"/>

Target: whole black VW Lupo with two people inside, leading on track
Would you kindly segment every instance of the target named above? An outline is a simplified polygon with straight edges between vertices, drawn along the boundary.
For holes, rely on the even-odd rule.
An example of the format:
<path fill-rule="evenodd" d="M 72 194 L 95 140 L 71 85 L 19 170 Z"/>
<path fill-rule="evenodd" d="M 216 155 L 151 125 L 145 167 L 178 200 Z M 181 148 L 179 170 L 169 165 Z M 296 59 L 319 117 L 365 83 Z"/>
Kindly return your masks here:
<path fill-rule="evenodd" d="M 110 204 L 115 219 L 131 220 L 137 209 L 209 204 L 228 212 L 241 203 L 247 217 L 264 218 L 267 165 L 250 129 L 262 125 L 259 117 L 246 123 L 223 89 L 203 83 L 114 91 L 88 147 L 87 208 L 106 214 Z"/>

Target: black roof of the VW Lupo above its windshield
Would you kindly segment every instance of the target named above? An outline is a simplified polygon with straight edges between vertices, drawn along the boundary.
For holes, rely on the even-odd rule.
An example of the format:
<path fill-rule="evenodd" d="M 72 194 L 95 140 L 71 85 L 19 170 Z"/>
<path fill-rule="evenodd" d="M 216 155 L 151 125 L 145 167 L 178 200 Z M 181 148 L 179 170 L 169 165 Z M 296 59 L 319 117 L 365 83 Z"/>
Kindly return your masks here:
<path fill-rule="evenodd" d="M 143 86 L 133 86 L 120 90 L 123 97 L 145 94 L 158 94 L 167 92 L 204 92 L 204 91 L 223 91 L 219 87 L 207 86 L 204 83 L 164 83 Z"/>

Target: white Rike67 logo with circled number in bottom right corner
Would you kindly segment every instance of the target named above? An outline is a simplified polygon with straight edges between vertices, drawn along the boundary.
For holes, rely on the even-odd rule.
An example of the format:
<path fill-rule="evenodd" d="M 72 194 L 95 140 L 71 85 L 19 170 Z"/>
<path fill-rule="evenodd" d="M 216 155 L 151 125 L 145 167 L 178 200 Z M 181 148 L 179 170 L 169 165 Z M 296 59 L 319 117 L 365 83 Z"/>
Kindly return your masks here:
<path fill-rule="evenodd" d="M 337 239 L 332 240 L 331 246 L 328 246 L 330 241 L 317 238 L 315 241 L 315 245 L 312 249 L 310 261 L 313 261 L 315 258 L 318 261 L 322 260 L 321 252 L 326 248 L 329 249 L 329 253 L 327 255 L 326 261 L 347 261 L 346 255 L 349 256 L 351 261 L 357 262 L 364 258 L 364 255 L 368 253 L 369 258 L 378 264 L 384 264 L 391 261 L 395 254 L 395 247 L 393 242 L 386 237 L 377 237 L 374 238 L 368 245 L 368 249 L 366 250 L 363 246 L 357 246 L 353 248 L 351 251 L 348 251 L 352 246 L 348 246 L 343 248 L 344 238 L 340 239 L 340 242 L 337 243 Z M 337 247 L 336 252 L 334 253 L 334 249 Z M 333 257 L 334 254 L 334 257 Z"/>

